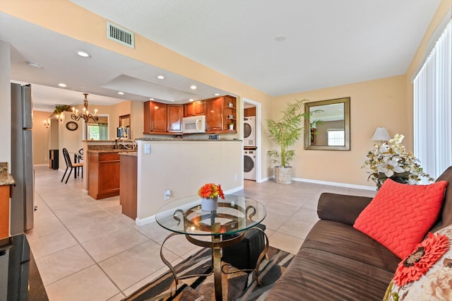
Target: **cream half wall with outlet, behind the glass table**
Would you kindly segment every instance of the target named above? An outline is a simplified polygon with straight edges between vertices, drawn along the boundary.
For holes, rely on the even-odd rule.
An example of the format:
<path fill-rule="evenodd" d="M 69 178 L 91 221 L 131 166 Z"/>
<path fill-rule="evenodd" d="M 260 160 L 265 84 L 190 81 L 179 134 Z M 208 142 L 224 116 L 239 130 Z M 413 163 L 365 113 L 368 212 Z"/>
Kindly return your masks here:
<path fill-rule="evenodd" d="M 143 153 L 146 143 L 150 154 Z M 242 189 L 242 151 L 239 141 L 138 141 L 137 219 L 155 215 L 168 202 L 165 189 L 171 190 L 169 201 L 196 196 L 210 182 L 221 184 L 225 193 Z"/>

